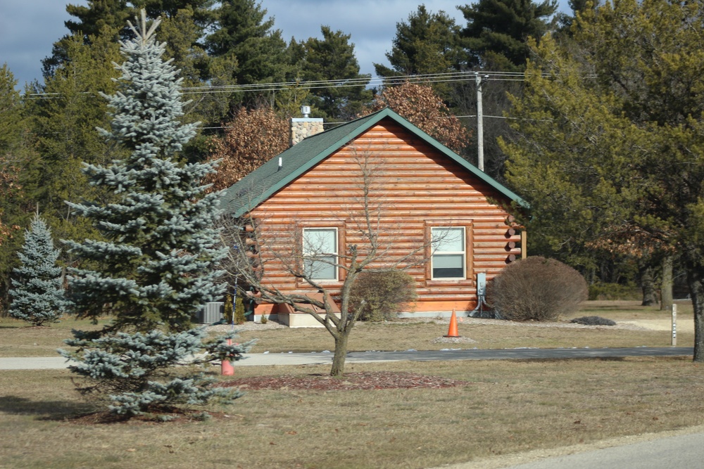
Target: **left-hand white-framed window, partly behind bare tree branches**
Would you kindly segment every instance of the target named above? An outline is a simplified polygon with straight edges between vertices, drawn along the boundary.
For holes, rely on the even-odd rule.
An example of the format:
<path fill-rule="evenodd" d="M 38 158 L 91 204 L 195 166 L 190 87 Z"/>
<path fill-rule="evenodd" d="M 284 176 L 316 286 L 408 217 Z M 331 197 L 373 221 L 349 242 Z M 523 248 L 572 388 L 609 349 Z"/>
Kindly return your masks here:
<path fill-rule="evenodd" d="M 303 269 L 311 280 L 337 281 L 337 228 L 303 229 Z"/>

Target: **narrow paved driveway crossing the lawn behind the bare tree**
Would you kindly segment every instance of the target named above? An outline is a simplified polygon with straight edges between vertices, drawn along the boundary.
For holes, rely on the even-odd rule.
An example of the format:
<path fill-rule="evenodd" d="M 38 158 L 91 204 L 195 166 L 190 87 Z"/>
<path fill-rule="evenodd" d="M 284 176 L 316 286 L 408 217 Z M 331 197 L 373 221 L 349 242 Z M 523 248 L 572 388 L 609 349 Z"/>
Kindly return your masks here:
<path fill-rule="evenodd" d="M 370 361 L 429 361 L 429 360 L 525 360 L 525 359 L 587 359 L 623 356 L 683 356 L 693 354 L 691 347 L 636 347 L 621 349 L 458 349 L 406 350 L 405 352 L 351 352 L 348 363 Z M 329 365 L 332 353 L 311 352 L 278 354 L 245 354 L 236 366 Z M 0 370 L 66 368 L 61 356 L 0 358 Z"/>

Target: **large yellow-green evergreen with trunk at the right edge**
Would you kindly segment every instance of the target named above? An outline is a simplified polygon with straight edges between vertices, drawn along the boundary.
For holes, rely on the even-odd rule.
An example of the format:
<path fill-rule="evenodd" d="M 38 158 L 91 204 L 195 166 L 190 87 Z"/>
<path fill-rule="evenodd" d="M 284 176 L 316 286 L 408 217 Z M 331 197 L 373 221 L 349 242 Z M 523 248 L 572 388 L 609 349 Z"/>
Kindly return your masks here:
<path fill-rule="evenodd" d="M 555 246 L 589 235 L 629 252 L 677 253 L 693 358 L 704 361 L 703 4 L 607 3 L 578 15 L 573 32 L 567 46 L 533 44 L 511 116 L 520 140 L 505 145 L 510 182 L 535 223 L 561 234 Z"/>

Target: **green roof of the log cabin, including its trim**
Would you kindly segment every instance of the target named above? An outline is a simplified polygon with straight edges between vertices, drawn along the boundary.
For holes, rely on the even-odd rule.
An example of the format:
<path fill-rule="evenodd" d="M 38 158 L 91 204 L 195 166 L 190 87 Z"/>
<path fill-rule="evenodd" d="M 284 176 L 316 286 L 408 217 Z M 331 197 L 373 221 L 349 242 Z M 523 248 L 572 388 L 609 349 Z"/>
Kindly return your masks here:
<path fill-rule="evenodd" d="M 389 108 L 384 108 L 360 117 L 359 119 L 341 124 L 334 129 L 315 134 L 304 139 L 300 143 L 292 146 L 283 153 L 275 156 L 268 162 L 244 176 L 230 188 L 225 189 L 220 199 L 220 208 L 225 213 L 231 213 L 234 217 L 241 217 L 254 207 L 263 203 L 274 195 L 281 188 L 294 181 L 298 176 L 305 174 L 308 169 L 314 167 L 329 155 L 332 155 L 339 148 L 355 139 L 367 129 L 375 126 L 382 119 L 389 118 L 401 124 L 402 127 L 420 137 L 430 146 L 436 148 L 451 160 L 457 162 L 477 178 L 495 188 L 499 193 L 505 195 L 510 200 L 527 207 L 528 204 L 518 195 L 510 191 L 505 186 L 488 176 L 477 167 L 471 165 L 467 160 L 457 153 L 439 143 L 415 125 L 408 122 L 400 115 L 394 113 Z M 282 159 L 282 166 L 279 167 L 279 158 Z"/>

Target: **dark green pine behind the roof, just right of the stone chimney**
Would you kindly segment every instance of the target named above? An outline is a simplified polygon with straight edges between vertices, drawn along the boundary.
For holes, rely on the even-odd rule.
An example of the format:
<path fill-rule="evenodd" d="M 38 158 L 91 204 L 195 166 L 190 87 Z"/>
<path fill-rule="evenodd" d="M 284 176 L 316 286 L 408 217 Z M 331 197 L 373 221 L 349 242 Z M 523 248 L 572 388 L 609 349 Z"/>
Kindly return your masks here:
<path fill-rule="evenodd" d="M 372 100 L 372 92 L 365 89 L 371 76 L 360 74 L 349 34 L 328 26 L 320 27 L 320 32 L 322 39 L 311 37 L 305 43 L 301 76 L 306 81 L 334 80 L 337 86 L 311 89 L 308 100 L 315 107 L 314 116 L 349 120 Z"/>

